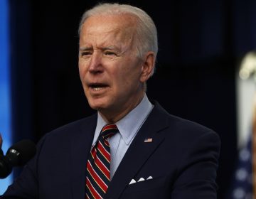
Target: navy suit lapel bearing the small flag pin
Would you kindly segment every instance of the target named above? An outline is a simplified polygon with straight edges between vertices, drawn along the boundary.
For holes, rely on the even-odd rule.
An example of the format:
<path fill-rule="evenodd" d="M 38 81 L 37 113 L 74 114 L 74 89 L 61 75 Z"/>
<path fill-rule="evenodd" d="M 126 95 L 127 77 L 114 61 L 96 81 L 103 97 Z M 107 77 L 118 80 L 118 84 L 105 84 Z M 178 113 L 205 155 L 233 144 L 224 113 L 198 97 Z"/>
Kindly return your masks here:
<path fill-rule="evenodd" d="M 156 104 L 131 146 L 124 155 L 107 190 L 106 198 L 119 198 L 124 188 L 136 176 L 144 162 L 164 141 L 164 134 L 159 133 L 167 127 L 166 117 L 159 104 Z M 144 142 L 152 138 L 151 142 Z"/>

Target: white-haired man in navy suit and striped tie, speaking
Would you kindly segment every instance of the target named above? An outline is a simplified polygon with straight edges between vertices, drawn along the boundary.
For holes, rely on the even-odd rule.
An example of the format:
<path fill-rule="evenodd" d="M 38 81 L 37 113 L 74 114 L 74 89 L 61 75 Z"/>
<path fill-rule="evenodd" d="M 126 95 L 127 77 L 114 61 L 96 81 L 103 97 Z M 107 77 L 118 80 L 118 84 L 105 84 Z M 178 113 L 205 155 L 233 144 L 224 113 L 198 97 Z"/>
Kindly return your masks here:
<path fill-rule="evenodd" d="M 146 97 L 157 53 L 151 18 L 100 4 L 79 34 L 80 79 L 97 114 L 46 134 L 2 198 L 216 198 L 217 134 Z"/>

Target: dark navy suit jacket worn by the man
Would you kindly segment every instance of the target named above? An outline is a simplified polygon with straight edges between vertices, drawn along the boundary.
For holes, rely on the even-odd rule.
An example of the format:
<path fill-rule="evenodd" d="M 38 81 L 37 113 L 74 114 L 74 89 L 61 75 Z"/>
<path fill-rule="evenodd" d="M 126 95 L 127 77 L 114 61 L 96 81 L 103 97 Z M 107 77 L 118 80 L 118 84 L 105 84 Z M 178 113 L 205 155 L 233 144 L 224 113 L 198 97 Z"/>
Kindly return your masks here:
<path fill-rule="evenodd" d="M 2 198 L 84 199 L 97 114 L 46 134 Z M 145 142 L 145 139 L 152 139 Z M 155 104 L 114 174 L 105 198 L 217 198 L 220 139 Z M 146 180 L 149 176 L 150 180 Z M 140 181 L 129 185 L 134 179 Z"/>

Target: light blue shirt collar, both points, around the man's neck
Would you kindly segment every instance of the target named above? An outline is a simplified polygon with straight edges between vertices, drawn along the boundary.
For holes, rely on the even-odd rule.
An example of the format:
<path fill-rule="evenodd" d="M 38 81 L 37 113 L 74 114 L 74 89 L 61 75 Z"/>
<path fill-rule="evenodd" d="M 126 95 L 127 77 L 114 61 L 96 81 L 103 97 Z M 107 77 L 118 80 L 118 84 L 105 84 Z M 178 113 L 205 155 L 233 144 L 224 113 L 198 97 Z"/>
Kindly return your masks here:
<path fill-rule="evenodd" d="M 140 102 L 137 107 L 132 109 L 125 117 L 120 119 L 116 125 L 119 130 L 119 133 L 124 139 L 125 144 L 129 144 L 134 136 L 137 134 L 137 131 L 142 127 L 142 124 L 146 120 L 147 116 L 151 112 L 153 105 L 149 102 L 148 97 L 144 95 L 142 102 Z M 98 136 L 100 135 L 101 129 L 107 124 L 105 120 L 101 117 L 100 113 L 97 114 L 97 126 L 95 129 L 95 136 L 92 142 L 92 146 L 95 145 Z"/>

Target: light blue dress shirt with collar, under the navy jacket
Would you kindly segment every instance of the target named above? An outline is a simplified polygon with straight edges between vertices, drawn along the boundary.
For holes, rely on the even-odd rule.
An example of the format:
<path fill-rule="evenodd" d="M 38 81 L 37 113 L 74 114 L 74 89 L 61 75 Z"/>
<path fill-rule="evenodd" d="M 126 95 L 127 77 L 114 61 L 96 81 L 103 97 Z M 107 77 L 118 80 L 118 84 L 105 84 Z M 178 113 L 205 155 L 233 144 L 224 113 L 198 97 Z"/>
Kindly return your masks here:
<path fill-rule="evenodd" d="M 122 161 L 124 154 L 129 148 L 132 140 L 136 136 L 139 129 L 142 127 L 142 124 L 145 122 L 146 118 L 149 116 L 149 113 L 153 109 L 153 105 L 149 102 L 149 99 L 144 95 L 142 102 L 140 102 L 137 107 L 132 109 L 125 117 L 120 119 L 116 125 L 119 130 L 119 133 L 114 134 L 109 139 L 110 142 L 110 176 L 114 176 L 114 172 L 117 171 L 119 163 Z M 98 113 L 97 117 L 97 126 L 95 129 L 95 136 L 92 141 L 92 146 L 95 145 L 98 136 L 102 127 L 107 124 L 105 120 Z"/>

